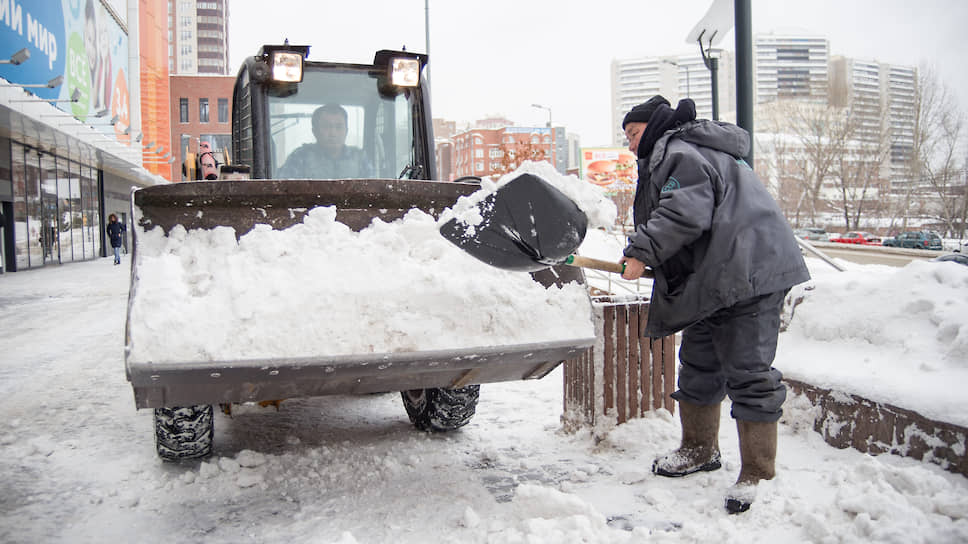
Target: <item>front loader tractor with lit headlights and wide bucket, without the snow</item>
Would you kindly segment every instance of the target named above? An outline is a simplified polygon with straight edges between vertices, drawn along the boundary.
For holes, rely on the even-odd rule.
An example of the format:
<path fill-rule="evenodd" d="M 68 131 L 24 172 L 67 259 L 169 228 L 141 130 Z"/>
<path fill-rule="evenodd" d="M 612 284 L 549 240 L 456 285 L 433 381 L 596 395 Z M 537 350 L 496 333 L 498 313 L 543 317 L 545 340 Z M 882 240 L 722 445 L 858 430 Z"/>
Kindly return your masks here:
<path fill-rule="evenodd" d="M 223 166 L 218 181 L 134 191 L 132 212 L 140 227 L 160 227 L 167 235 L 176 225 L 231 226 L 238 237 L 257 224 L 285 229 L 301 223 L 314 207 L 335 206 L 337 220 L 358 231 L 376 217 L 392 221 L 411 208 L 436 215 L 479 188 L 461 180 L 433 181 L 433 125 L 422 77 L 426 55 L 379 51 L 372 64 L 347 64 L 309 61 L 308 50 L 288 43 L 263 46 L 244 61 L 232 101 L 232 173 Z M 248 172 L 240 175 L 240 170 Z M 139 288 L 138 230 L 129 353 L 131 307 Z M 573 270 L 544 278 L 536 274 L 536 281 L 574 279 Z M 400 391 L 417 428 L 455 429 L 474 414 L 479 384 L 541 378 L 593 342 L 582 338 L 298 361 L 145 362 L 126 357 L 126 370 L 136 406 L 155 411 L 158 454 L 184 459 L 211 452 L 214 405 L 226 410 L 234 403 Z"/>

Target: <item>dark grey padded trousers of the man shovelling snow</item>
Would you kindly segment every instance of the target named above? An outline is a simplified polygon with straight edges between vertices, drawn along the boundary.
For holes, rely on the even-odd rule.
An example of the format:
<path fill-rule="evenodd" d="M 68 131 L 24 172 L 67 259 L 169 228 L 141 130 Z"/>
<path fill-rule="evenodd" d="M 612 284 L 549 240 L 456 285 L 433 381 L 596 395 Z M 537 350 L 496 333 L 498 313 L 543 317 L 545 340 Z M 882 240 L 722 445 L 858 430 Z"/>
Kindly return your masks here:
<path fill-rule="evenodd" d="M 708 405 L 729 395 L 736 419 L 780 419 L 786 387 L 773 357 L 786 293 L 745 300 L 683 330 L 679 390 L 672 398 Z"/>

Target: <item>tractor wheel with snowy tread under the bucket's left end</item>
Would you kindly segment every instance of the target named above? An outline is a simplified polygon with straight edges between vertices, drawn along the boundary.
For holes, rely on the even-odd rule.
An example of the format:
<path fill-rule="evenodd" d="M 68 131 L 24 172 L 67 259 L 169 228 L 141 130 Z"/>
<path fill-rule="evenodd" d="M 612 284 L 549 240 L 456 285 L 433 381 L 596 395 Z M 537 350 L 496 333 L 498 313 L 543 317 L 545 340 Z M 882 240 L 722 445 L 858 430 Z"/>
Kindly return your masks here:
<path fill-rule="evenodd" d="M 213 413 L 210 404 L 155 408 L 158 456 L 166 461 L 178 461 L 212 453 Z"/>

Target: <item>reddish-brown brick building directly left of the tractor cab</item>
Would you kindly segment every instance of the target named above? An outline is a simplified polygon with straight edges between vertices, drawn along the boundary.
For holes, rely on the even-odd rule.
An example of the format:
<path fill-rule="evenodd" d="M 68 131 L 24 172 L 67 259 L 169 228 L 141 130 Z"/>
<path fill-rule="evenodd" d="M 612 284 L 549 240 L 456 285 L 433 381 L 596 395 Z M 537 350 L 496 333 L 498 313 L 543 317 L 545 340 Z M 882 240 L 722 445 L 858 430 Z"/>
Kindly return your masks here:
<path fill-rule="evenodd" d="M 195 179 L 195 159 L 207 142 L 219 164 L 232 160 L 233 76 L 171 76 L 174 180 Z M 187 159 L 187 162 L 186 162 Z M 184 168 L 183 168 L 184 166 Z"/>

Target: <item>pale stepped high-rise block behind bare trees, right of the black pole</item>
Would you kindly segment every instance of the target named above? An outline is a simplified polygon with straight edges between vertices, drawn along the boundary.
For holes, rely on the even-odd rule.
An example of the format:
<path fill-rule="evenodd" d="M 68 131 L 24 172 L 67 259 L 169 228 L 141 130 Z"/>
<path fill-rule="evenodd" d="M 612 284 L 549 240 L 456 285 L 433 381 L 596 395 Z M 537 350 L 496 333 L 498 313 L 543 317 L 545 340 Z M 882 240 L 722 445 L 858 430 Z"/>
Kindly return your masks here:
<path fill-rule="evenodd" d="M 875 178 L 865 182 L 869 185 L 865 185 L 861 198 L 877 200 L 889 188 L 896 189 L 910 180 L 916 69 L 832 56 L 827 40 L 816 36 L 757 35 L 754 44 L 756 109 L 764 120 L 771 119 L 760 126 L 775 131 L 757 134 L 756 166 L 767 174 L 771 186 L 781 185 L 784 163 L 789 165 L 791 157 L 806 153 L 804 142 L 796 134 L 813 131 L 794 126 L 804 123 L 821 123 L 829 134 L 834 127 L 843 130 L 848 139 L 838 145 L 845 146 L 847 163 L 853 163 L 858 172 L 876 168 Z M 806 117 L 791 117 L 791 111 L 800 111 Z M 866 175 L 857 174 L 859 179 Z M 839 191 L 825 187 L 821 195 L 836 200 L 842 197 Z"/>

